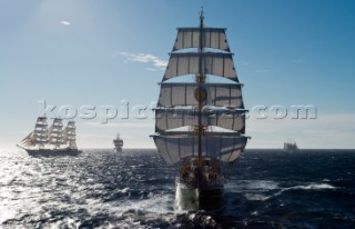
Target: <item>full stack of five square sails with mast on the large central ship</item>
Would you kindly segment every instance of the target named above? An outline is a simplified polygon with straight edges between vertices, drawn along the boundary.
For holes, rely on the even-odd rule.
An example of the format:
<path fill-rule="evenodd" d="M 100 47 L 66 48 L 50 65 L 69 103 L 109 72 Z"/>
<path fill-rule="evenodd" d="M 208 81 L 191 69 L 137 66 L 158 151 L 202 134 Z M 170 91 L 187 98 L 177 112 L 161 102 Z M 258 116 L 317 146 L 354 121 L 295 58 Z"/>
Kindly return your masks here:
<path fill-rule="evenodd" d="M 194 76 L 195 82 L 180 76 Z M 203 13 L 199 28 L 178 29 L 152 136 L 162 158 L 168 163 L 186 157 L 235 161 L 247 141 L 242 86 L 225 29 L 204 28 Z"/>

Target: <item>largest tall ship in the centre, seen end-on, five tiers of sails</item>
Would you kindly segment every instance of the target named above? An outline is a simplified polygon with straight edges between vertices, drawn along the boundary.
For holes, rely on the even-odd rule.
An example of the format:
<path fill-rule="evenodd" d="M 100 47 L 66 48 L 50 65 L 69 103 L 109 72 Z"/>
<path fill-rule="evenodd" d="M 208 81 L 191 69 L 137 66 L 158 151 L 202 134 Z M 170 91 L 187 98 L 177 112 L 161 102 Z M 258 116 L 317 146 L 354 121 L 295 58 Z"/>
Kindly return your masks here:
<path fill-rule="evenodd" d="M 221 162 L 243 152 L 245 113 L 242 83 L 224 28 L 178 28 L 178 37 L 155 108 L 151 137 L 169 165 L 178 163 L 176 210 L 219 210 L 224 206 Z"/>

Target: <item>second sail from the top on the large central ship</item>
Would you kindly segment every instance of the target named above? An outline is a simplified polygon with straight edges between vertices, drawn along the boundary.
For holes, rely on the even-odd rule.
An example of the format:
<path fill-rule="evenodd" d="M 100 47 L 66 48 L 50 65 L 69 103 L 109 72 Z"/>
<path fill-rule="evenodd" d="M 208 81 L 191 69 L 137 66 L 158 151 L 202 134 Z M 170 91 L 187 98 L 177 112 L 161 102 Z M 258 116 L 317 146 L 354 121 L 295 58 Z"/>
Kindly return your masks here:
<path fill-rule="evenodd" d="M 199 61 L 202 61 L 202 73 L 224 77 L 237 81 L 232 53 L 221 52 L 178 52 L 171 53 L 163 81 L 183 74 L 197 74 Z"/>

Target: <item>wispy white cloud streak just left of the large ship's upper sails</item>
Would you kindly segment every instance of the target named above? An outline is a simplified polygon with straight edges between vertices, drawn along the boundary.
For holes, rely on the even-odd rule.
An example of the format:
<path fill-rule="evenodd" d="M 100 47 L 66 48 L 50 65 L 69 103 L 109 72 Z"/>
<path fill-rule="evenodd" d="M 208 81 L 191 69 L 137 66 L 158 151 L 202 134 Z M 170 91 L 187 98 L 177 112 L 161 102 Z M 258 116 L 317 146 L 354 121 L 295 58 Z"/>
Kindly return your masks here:
<path fill-rule="evenodd" d="M 120 52 L 120 56 L 124 58 L 124 62 L 142 62 L 142 63 L 151 63 L 152 68 L 146 68 L 146 70 L 164 70 L 168 66 L 168 61 L 162 60 L 153 54 L 146 53 L 129 53 L 129 52 Z M 116 54 L 115 54 L 116 56 Z"/>

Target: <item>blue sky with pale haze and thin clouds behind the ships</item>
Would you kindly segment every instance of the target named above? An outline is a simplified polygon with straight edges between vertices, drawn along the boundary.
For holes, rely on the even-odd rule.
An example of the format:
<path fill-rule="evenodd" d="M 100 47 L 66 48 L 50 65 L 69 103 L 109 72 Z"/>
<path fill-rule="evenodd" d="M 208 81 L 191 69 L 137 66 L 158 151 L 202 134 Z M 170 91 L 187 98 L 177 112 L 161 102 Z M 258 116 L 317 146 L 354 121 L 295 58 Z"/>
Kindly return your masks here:
<path fill-rule="evenodd" d="M 202 6 L 227 29 L 247 148 L 355 148 L 355 1 L 0 0 L 0 149 L 44 112 L 73 117 L 79 148 L 154 148 L 158 83 Z"/>

